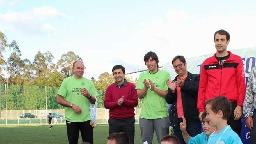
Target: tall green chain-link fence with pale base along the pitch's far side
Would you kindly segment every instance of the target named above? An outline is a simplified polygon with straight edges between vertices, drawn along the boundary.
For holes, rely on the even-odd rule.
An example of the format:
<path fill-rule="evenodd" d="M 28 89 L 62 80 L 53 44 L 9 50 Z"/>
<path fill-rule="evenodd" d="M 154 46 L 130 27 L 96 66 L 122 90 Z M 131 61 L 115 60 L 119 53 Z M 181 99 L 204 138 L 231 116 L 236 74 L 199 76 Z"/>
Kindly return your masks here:
<path fill-rule="evenodd" d="M 56 102 L 58 87 L 0 85 L 0 125 L 47 124 L 52 113 L 55 124 L 65 123 L 65 109 Z M 98 91 L 97 123 L 107 123 L 109 109 L 104 109 L 104 91 Z M 138 123 L 140 108 L 135 108 Z"/>

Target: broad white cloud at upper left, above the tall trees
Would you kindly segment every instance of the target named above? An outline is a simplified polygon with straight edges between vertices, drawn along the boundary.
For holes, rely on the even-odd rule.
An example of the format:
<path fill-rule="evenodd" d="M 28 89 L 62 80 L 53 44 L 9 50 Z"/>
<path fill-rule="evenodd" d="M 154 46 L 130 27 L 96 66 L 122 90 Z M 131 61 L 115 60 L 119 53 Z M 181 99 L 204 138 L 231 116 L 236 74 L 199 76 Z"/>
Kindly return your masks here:
<path fill-rule="evenodd" d="M 0 28 L 25 33 L 42 33 L 56 28 L 50 23 L 53 18 L 67 18 L 51 6 L 35 7 L 26 12 L 9 11 L 0 14 Z"/>

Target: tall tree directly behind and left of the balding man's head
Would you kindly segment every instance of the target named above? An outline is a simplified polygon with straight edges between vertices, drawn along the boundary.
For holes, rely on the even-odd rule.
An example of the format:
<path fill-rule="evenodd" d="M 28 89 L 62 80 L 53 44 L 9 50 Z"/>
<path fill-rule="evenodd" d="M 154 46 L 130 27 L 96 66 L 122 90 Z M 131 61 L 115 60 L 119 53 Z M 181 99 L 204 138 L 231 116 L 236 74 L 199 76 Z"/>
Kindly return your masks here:
<path fill-rule="evenodd" d="M 73 75 L 73 63 L 77 60 L 78 55 L 76 55 L 73 51 L 67 52 L 67 54 L 63 54 L 61 59 L 58 60 L 57 66 L 61 69 L 61 73 L 65 75 L 65 77 L 70 77 Z"/>

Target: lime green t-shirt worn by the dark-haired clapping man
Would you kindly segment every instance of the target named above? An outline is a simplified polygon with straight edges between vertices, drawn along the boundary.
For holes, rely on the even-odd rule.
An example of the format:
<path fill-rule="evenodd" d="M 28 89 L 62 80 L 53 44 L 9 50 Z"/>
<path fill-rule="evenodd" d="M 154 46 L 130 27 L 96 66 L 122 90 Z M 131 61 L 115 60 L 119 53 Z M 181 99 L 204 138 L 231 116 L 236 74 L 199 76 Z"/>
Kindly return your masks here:
<path fill-rule="evenodd" d="M 170 74 L 166 71 L 158 70 L 158 72 L 154 74 L 150 74 L 149 71 L 146 71 L 140 74 L 139 80 L 136 84 L 136 89 L 144 88 L 144 79 L 147 81 L 150 79 L 154 83 L 155 88 L 162 91 L 168 90 L 166 80 L 171 80 Z M 140 118 L 165 118 L 168 115 L 168 104 L 166 103 L 165 98 L 159 96 L 149 88 L 146 95 L 142 98 Z"/>

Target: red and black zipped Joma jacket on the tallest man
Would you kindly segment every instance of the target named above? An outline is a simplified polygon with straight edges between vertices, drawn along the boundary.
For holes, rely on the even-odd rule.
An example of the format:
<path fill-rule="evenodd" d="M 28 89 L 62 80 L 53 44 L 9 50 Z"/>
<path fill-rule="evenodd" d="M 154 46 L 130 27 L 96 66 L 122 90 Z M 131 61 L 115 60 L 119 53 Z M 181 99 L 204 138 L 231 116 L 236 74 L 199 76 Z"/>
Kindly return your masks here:
<path fill-rule="evenodd" d="M 205 111 L 205 101 L 218 96 L 225 96 L 243 106 L 246 90 L 243 61 L 240 56 L 228 53 L 230 56 L 223 65 L 216 59 L 216 53 L 202 64 L 197 103 L 199 112 Z"/>

